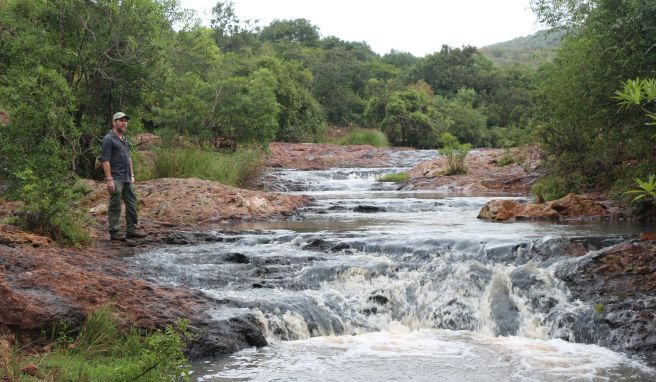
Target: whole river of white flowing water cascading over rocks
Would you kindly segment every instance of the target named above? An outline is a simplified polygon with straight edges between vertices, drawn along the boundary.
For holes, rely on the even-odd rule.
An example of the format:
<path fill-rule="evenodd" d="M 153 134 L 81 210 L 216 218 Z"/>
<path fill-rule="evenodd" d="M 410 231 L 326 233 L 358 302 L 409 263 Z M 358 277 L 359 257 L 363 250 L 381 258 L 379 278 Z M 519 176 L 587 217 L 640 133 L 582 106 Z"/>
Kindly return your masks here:
<path fill-rule="evenodd" d="M 487 197 L 396 191 L 396 168 L 275 171 L 315 198 L 292 221 L 233 225 L 221 242 L 136 261 L 255 315 L 269 346 L 194 364 L 198 381 L 648 381 L 654 370 L 596 345 L 594 307 L 557 267 L 635 235 L 611 224 L 477 220 Z"/>

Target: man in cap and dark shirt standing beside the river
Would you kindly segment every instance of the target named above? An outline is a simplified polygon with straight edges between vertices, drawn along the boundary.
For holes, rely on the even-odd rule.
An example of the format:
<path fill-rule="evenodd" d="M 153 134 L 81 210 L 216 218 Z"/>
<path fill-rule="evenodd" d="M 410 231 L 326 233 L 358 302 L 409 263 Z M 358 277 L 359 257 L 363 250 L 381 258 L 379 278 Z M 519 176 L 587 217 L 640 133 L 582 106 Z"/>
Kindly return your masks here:
<path fill-rule="evenodd" d="M 125 241 L 126 238 L 143 238 L 147 234 L 137 230 L 137 195 L 134 190 L 134 170 L 130 158 L 130 143 L 123 137 L 130 117 L 123 112 L 114 114 L 112 130 L 102 139 L 101 159 L 107 191 L 109 191 L 109 238 Z M 125 236 L 119 234 L 121 198 L 125 202 Z"/>

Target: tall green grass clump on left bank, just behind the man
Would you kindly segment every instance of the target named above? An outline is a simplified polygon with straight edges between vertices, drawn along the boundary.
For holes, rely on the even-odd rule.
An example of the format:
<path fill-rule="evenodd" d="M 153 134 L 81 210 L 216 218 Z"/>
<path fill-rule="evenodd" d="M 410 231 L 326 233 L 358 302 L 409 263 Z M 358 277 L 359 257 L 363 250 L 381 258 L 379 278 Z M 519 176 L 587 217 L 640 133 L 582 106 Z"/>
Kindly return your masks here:
<path fill-rule="evenodd" d="M 152 178 L 199 178 L 231 186 L 245 186 L 263 168 L 258 149 L 219 153 L 199 148 L 160 148 L 155 151 Z"/>

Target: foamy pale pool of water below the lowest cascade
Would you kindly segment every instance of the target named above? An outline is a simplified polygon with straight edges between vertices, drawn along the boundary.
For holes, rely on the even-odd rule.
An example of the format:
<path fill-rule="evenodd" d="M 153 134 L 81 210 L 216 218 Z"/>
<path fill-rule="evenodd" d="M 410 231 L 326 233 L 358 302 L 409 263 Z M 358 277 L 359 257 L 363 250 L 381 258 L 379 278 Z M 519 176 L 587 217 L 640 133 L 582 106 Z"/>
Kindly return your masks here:
<path fill-rule="evenodd" d="M 206 371 L 207 369 L 213 372 Z M 248 349 L 198 381 L 648 381 L 649 369 L 595 345 L 394 325 Z"/>

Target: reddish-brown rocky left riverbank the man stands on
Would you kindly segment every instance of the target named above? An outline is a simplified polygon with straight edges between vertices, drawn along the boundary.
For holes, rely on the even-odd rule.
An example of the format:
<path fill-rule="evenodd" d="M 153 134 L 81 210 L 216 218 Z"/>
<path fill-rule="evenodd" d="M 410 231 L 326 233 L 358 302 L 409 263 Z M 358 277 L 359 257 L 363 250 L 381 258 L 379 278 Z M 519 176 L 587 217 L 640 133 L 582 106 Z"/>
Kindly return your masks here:
<path fill-rule="evenodd" d="M 188 288 L 149 280 L 125 258 L 171 244 L 223 240 L 211 229 L 236 221 L 283 219 L 309 202 L 304 196 L 238 189 L 199 179 L 156 179 L 137 183 L 140 226 L 149 236 L 127 242 L 109 241 L 107 194 L 102 182 L 86 181 L 82 200 L 88 209 L 92 243 L 66 248 L 18 227 L 0 225 L 0 332 L 13 346 L 49 346 L 44 333 L 60 322 L 79 327 L 89 313 L 113 306 L 123 328 L 164 328 L 179 318 L 190 320 L 193 358 L 231 353 L 265 344 L 252 316 L 221 321 L 208 312 L 212 299 Z M 18 205 L 0 204 L 0 219 Z M 36 341 L 36 342 L 35 342 Z"/>

